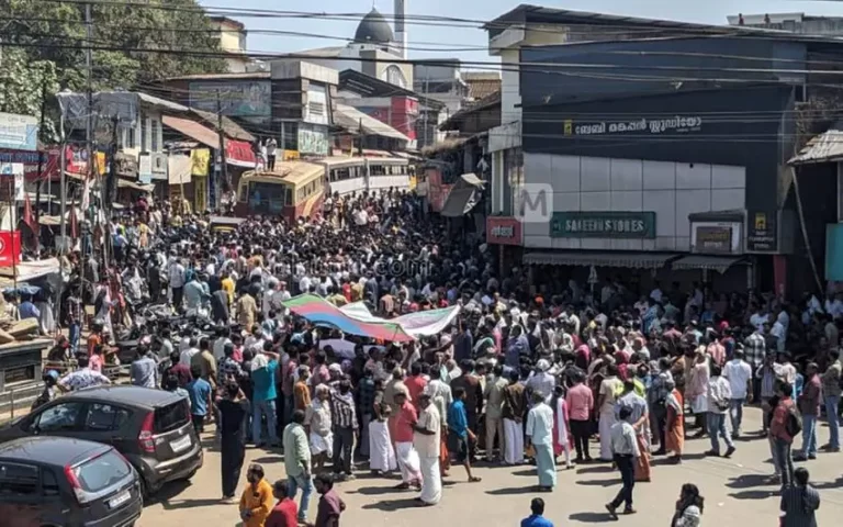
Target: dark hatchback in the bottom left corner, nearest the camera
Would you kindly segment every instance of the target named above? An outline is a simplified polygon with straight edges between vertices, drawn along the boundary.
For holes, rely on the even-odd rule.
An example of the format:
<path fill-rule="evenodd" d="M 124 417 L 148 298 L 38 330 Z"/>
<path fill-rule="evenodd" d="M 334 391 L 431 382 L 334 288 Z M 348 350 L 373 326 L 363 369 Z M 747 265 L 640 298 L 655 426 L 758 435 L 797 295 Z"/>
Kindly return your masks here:
<path fill-rule="evenodd" d="M 47 436 L 0 445 L 3 525 L 130 527 L 143 508 L 140 478 L 114 447 Z"/>

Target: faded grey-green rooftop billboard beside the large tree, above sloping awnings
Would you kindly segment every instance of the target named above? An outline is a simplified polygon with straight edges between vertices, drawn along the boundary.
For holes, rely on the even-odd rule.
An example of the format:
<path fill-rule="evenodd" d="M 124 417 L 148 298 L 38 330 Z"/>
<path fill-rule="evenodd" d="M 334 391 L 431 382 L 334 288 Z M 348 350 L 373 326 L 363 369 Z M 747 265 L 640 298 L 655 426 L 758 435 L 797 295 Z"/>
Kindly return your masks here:
<path fill-rule="evenodd" d="M 268 80 L 191 82 L 190 105 L 217 113 L 217 94 L 223 115 L 269 117 L 272 115 L 272 88 Z"/>

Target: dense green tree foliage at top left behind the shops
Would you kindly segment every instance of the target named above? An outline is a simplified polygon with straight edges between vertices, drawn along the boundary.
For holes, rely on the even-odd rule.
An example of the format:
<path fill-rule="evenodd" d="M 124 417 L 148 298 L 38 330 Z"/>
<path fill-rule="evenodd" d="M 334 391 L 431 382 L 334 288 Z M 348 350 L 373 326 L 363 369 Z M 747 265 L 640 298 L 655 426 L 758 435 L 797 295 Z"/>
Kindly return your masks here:
<path fill-rule="evenodd" d="M 93 52 L 91 77 L 94 90 L 143 90 L 147 82 L 166 77 L 225 71 L 222 58 L 190 55 L 190 52 L 220 52 L 218 33 L 212 31 L 207 16 L 198 9 L 196 0 L 147 2 L 148 7 L 138 5 L 137 2 L 124 5 L 93 4 L 92 45 L 110 48 Z M 20 53 L 30 69 L 36 70 L 36 65 L 52 64 L 59 88 L 74 91 L 86 89 L 83 47 L 87 33 L 83 4 L 0 0 L 0 13 L 3 13 L 0 19 L 0 38 L 4 43 L 15 44 L 2 47 L 0 69 L 7 68 L 5 63 L 10 56 Z M 146 49 L 182 49 L 188 53 L 164 54 Z M 33 75 L 38 77 L 42 74 L 20 74 L 15 86 L 33 91 L 40 98 L 41 85 L 29 86 L 26 82 L 32 80 Z M 1 91 L 11 91 L 2 88 Z M 21 98 L 29 100 L 29 96 Z M 0 101 L 0 108 L 3 104 Z"/>

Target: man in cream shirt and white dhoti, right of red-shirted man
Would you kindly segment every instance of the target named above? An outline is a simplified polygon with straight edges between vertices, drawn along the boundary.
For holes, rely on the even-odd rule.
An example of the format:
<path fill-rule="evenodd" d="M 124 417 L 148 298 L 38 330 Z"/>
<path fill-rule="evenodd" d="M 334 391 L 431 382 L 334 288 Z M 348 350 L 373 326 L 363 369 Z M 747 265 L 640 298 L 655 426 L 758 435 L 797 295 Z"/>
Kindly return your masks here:
<path fill-rule="evenodd" d="M 422 495 L 419 505 L 436 505 L 442 498 L 442 476 L 439 472 L 439 430 L 441 416 L 430 394 L 422 393 L 418 397 L 418 423 L 413 435 L 413 447 L 418 452 L 422 466 Z"/>

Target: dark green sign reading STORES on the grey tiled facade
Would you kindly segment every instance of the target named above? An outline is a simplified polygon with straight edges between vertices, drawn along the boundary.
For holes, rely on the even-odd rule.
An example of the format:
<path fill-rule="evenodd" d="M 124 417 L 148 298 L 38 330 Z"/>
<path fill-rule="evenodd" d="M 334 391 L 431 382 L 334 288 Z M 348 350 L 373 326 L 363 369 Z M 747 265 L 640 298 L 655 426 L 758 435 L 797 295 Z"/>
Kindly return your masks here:
<path fill-rule="evenodd" d="M 551 238 L 655 238 L 655 212 L 554 212 Z"/>

